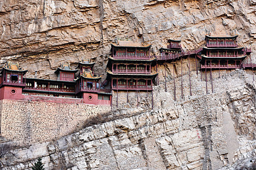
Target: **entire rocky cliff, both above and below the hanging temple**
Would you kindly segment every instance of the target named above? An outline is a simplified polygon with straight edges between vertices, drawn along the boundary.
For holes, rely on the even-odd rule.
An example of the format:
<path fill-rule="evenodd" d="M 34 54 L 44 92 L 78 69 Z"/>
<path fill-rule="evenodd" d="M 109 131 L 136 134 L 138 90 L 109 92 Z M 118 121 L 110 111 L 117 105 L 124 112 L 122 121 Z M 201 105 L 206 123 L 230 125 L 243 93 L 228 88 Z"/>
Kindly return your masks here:
<path fill-rule="evenodd" d="M 19 61 L 29 69 L 28 77 L 37 70 L 38 77 L 54 79 L 54 69 L 61 62 L 74 68 L 79 60 L 90 58 L 96 62 L 96 74 L 104 74 L 110 43 L 116 37 L 128 35 L 152 43 L 150 52 L 158 54 L 169 38 L 181 39 L 184 49 L 193 50 L 204 44 L 209 33 L 238 34 L 240 46 L 252 47 L 254 61 L 255 5 L 255 0 L 1 0 L 0 63 Z M 0 158 L 1 168 L 28 170 L 38 157 L 43 157 L 46 170 L 251 166 L 256 157 L 252 72 L 225 70 L 217 78 L 213 71 L 214 93 L 206 95 L 206 82 L 196 75 L 193 63 L 190 96 L 187 59 L 183 60 L 183 100 L 180 61 L 176 62 L 175 75 L 172 66 L 167 66 L 167 92 L 164 68 L 159 66 L 153 110 L 147 98 L 140 99 L 143 107 L 113 112 L 121 115 L 119 119 L 55 141 L 13 149 Z M 208 90 L 212 91 L 210 81 Z M 131 103 L 136 105 L 135 100 Z"/>

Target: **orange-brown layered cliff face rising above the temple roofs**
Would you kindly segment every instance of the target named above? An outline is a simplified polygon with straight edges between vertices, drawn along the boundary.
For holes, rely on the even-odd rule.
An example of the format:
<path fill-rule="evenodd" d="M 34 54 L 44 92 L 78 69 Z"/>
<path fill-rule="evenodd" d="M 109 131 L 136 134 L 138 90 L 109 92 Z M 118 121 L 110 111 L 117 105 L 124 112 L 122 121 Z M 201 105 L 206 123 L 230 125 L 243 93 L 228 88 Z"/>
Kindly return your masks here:
<path fill-rule="evenodd" d="M 96 62 L 104 74 L 116 37 L 152 43 L 152 54 L 167 39 L 185 50 L 204 44 L 205 34 L 238 34 L 241 46 L 256 47 L 255 0 L 1 0 L 0 63 L 17 60 L 32 77 L 55 78 L 61 62 L 76 67 Z M 140 36 L 138 36 L 140 35 Z M 254 56 L 255 54 L 252 54 Z M 254 58 L 254 57 L 253 57 Z"/>

